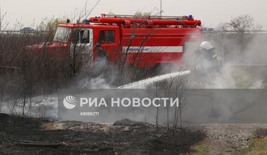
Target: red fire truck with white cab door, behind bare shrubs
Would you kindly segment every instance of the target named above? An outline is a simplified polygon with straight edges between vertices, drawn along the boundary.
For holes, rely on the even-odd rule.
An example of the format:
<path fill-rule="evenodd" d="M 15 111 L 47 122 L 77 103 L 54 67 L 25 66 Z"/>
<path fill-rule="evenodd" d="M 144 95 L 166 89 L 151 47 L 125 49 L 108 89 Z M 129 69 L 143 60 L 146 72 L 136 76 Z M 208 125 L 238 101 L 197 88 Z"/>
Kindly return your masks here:
<path fill-rule="evenodd" d="M 112 16 L 112 17 L 111 17 Z M 53 44 L 71 44 L 73 32 L 77 44 L 93 49 L 99 43 L 111 63 L 137 67 L 171 64 L 184 66 L 193 49 L 203 41 L 201 21 L 189 16 L 107 15 L 58 25 Z M 93 50 L 93 61 L 97 57 Z"/>

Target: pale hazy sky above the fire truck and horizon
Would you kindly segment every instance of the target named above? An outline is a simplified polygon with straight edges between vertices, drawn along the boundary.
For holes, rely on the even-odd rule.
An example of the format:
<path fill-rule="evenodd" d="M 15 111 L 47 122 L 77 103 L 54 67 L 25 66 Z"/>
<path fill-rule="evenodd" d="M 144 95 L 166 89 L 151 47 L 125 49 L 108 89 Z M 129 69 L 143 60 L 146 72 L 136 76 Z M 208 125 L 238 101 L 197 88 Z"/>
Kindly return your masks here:
<path fill-rule="evenodd" d="M 87 8 L 92 8 L 97 0 L 87 0 Z M 42 18 L 62 17 L 71 15 L 75 8 L 82 9 L 86 0 L 0 0 L 1 16 L 7 12 L 3 22 L 10 26 L 21 20 L 25 27 L 33 22 L 40 23 Z M 216 27 L 219 22 L 226 22 L 231 16 L 250 13 L 256 22 L 267 29 L 267 1 L 266 0 L 162 0 L 164 16 L 188 16 L 192 14 L 200 19 L 205 27 Z M 101 13 L 134 14 L 138 9 L 150 11 L 154 7 L 160 8 L 160 0 L 101 0 L 91 12 L 91 16 Z M 76 10 L 77 12 L 77 10 Z"/>

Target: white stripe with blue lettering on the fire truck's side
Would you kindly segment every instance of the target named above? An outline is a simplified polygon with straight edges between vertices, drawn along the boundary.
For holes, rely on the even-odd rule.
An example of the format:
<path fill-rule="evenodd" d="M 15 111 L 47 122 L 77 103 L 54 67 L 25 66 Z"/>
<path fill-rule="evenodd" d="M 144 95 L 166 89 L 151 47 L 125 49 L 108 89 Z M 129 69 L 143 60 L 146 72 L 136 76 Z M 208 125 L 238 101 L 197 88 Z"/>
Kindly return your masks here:
<path fill-rule="evenodd" d="M 123 52 L 126 53 L 128 46 L 123 46 Z M 183 52 L 182 46 L 130 46 L 128 53 L 153 53 L 153 52 Z"/>

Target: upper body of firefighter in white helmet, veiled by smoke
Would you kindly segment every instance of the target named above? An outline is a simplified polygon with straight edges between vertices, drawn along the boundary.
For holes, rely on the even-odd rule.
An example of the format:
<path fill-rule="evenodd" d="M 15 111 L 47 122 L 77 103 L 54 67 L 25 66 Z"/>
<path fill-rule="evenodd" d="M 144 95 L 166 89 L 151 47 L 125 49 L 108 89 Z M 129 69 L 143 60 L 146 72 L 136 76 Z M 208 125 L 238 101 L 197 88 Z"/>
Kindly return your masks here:
<path fill-rule="evenodd" d="M 205 88 L 212 87 L 214 80 L 221 76 L 222 59 L 215 53 L 215 47 L 210 42 L 202 42 L 195 50 L 196 64 L 194 71 L 198 74 L 199 84 Z"/>

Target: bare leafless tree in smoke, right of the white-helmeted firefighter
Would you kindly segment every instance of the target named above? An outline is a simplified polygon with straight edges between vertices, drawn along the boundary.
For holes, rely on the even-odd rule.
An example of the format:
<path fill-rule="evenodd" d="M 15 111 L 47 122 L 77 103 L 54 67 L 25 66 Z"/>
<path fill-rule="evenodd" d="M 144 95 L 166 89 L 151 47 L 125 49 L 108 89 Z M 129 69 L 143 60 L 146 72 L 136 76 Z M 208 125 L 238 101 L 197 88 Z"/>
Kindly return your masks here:
<path fill-rule="evenodd" d="M 219 23 L 216 30 L 220 35 L 213 38 L 226 61 L 231 51 L 235 49 L 244 53 L 247 45 L 261 29 L 262 25 L 255 23 L 254 16 L 250 14 L 238 15 L 232 17 L 229 22 Z"/>

